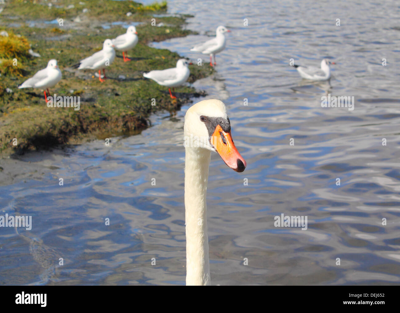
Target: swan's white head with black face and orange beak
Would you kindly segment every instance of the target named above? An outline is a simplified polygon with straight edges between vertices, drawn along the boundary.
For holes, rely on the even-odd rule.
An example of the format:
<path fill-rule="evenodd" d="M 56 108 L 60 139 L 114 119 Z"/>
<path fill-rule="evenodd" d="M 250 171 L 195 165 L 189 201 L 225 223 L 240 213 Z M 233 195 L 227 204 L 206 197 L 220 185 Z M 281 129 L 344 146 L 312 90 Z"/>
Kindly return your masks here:
<path fill-rule="evenodd" d="M 217 152 L 226 165 L 237 172 L 246 161 L 235 147 L 225 104 L 217 99 L 203 100 L 191 106 L 185 115 L 185 147 Z"/>

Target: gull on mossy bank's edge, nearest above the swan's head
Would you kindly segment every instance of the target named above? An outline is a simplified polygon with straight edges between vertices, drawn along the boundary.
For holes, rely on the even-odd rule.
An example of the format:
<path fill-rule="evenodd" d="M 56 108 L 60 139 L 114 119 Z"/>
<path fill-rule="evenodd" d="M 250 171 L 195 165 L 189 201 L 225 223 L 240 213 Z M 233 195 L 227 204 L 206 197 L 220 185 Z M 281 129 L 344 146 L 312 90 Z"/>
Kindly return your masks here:
<path fill-rule="evenodd" d="M 176 67 L 172 69 L 164 69 L 162 71 L 150 71 L 148 73 L 143 73 L 143 76 L 150 78 L 161 86 L 167 86 L 168 91 L 172 99 L 176 99 L 176 96 L 172 96 L 170 87 L 178 87 L 182 85 L 189 78 L 190 71 L 188 65 L 189 63 L 186 59 L 179 59 L 176 62 Z M 175 88 L 174 88 L 175 92 Z"/>

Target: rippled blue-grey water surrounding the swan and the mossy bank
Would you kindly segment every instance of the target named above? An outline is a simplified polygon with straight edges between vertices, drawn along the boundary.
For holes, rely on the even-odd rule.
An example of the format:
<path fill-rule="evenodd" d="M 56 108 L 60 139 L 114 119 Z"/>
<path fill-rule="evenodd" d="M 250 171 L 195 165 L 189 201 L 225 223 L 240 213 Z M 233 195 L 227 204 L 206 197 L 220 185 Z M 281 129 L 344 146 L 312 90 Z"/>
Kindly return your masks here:
<path fill-rule="evenodd" d="M 217 73 L 194 84 L 227 105 L 248 163 L 236 173 L 212 155 L 213 284 L 400 283 L 399 11 L 394 1 L 168 2 L 169 14 L 194 15 L 187 27 L 200 35 L 156 47 L 207 62 L 189 49 L 218 25 L 232 30 Z M 337 63 L 330 85 L 289 66 L 324 57 Z M 354 96 L 354 110 L 322 108 L 327 93 Z M 2 173 L 2 215 L 31 215 L 33 226 L 0 229 L 0 283 L 184 284 L 187 108 L 109 147 L 2 160 L 13 168 Z M 307 216 L 308 229 L 274 227 L 282 213 Z"/>

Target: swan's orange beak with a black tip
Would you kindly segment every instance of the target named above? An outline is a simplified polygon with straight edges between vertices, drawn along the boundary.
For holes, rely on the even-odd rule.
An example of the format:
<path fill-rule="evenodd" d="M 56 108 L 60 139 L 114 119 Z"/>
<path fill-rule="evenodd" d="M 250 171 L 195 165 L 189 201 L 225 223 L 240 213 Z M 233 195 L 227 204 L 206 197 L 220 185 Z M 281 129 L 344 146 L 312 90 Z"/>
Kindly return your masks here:
<path fill-rule="evenodd" d="M 232 136 L 222 130 L 220 125 L 215 128 L 214 134 L 210 138 L 210 143 L 214 146 L 225 164 L 236 172 L 242 172 L 246 168 L 246 161 L 236 149 Z"/>

